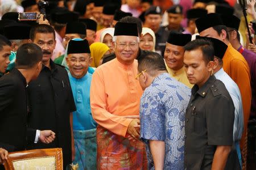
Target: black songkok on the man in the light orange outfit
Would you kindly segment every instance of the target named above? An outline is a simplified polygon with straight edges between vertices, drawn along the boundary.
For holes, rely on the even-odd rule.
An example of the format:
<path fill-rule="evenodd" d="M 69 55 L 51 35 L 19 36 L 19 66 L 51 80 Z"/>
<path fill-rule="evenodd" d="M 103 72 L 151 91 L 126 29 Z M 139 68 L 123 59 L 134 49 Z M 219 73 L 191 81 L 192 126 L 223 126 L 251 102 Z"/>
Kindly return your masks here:
<path fill-rule="evenodd" d="M 114 36 L 137 36 L 138 26 L 136 23 L 121 23 L 115 24 Z"/>

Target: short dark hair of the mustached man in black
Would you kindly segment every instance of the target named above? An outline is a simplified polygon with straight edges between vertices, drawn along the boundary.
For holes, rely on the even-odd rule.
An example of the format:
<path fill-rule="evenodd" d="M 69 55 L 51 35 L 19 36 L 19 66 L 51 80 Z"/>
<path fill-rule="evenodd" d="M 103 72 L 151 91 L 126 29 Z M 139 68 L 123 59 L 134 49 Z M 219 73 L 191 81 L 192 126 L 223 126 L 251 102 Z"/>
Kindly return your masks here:
<path fill-rule="evenodd" d="M 35 39 L 36 33 L 52 33 L 54 36 L 54 40 L 55 40 L 55 31 L 50 25 L 39 24 L 39 25 L 35 25 L 34 27 L 32 27 L 30 29 L 30 39 L 31 40 Z"/>

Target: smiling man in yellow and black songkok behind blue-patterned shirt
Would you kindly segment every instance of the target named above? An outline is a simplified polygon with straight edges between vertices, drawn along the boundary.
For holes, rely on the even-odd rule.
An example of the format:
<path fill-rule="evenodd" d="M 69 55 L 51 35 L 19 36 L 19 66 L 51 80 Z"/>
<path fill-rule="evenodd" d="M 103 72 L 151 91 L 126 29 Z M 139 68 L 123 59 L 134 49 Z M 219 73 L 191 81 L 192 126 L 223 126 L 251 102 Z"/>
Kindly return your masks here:
<path fill-rule="evenodd" d="M 171 31 L 166 42 L 166 49 L 164 50 L 164 60 L 166 61 L 166 68 L 170 76 L 192 88 L 193 85 L 188 81 L 183 63 L 183 46 L 189 41 L 191 41 L 190 34 Z"/>

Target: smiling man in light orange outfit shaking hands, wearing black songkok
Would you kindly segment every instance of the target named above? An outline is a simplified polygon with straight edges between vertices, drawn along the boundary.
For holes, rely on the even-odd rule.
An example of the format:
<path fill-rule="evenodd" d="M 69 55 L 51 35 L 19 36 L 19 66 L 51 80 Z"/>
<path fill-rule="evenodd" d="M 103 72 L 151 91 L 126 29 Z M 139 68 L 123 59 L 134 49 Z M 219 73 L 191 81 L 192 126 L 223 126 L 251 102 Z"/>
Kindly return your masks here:
<path fill-rule="evenodd" d="M 98 124 L 97 168 L 146 169 L 144 144 L 138 141 L 142 88 L 135 79 L 137 24 L 118 22 L 113 41 L 116 58 L 97 67 L 90 88 L 92 116 Z"/>

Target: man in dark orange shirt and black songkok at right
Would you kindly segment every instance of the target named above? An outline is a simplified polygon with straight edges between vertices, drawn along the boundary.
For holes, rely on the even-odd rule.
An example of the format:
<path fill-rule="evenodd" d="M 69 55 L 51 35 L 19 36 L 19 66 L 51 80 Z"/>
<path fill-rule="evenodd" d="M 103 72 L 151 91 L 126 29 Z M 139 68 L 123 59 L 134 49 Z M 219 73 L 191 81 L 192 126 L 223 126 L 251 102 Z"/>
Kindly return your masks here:
<path fill-rule="evenodd" d="M 242 96 L 243 104 L 243 135 L 240 141 L 242 158 L 246 160 L 247 144 L 245 143 L 247 123 L 251 107 L 251 87 L 249 66 L 242 54 L 232 47 L 226 26 L 223 24 L 220 15 L 208 14 L 196 20 L 196 27 L 200 36 L 212 37 L 225 42 L 228 45 L 223 57 L 224 71 L 237 83 Z"/>

